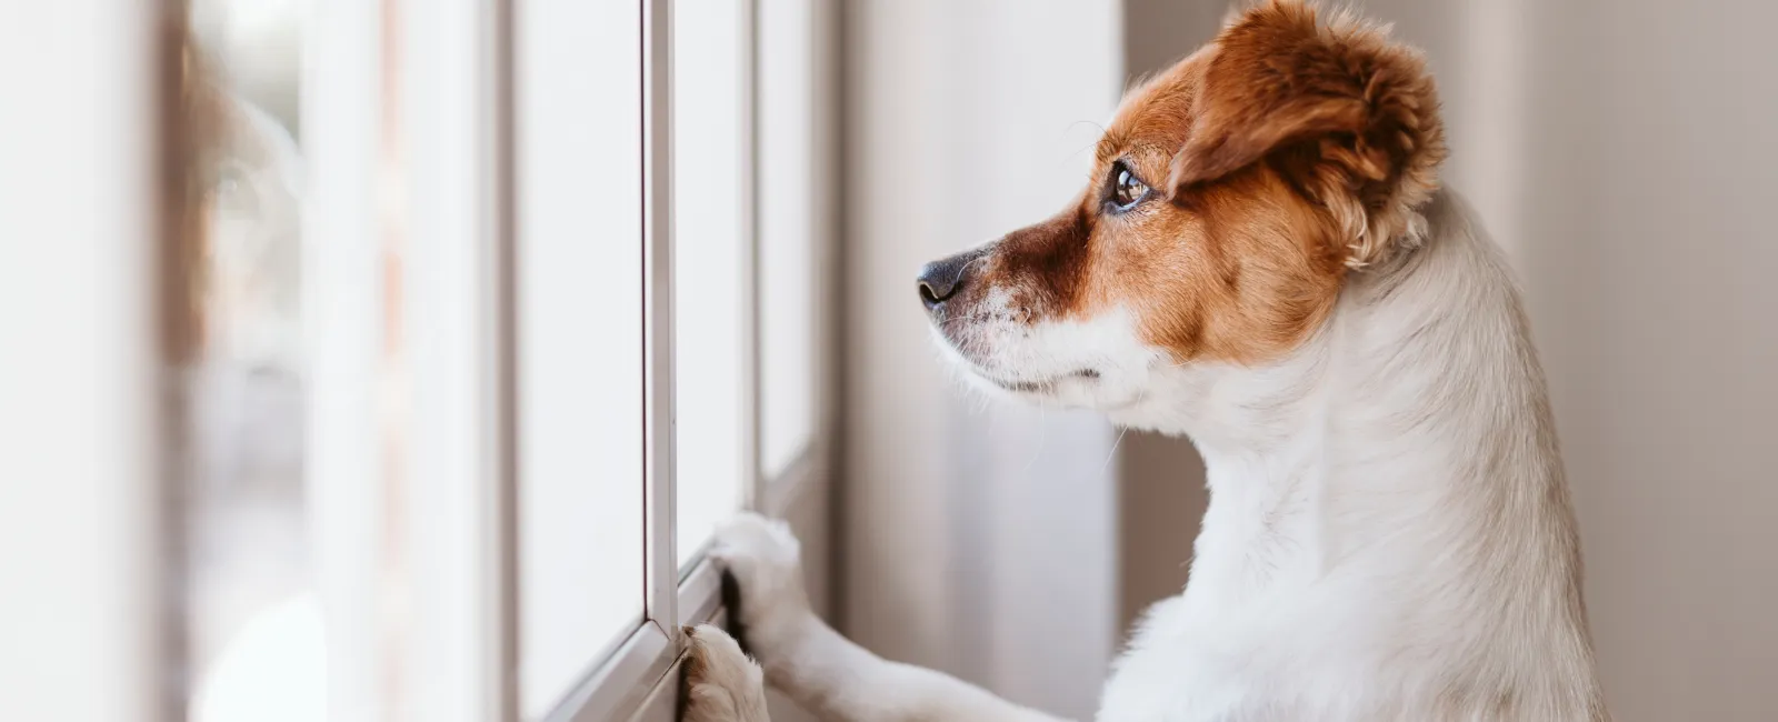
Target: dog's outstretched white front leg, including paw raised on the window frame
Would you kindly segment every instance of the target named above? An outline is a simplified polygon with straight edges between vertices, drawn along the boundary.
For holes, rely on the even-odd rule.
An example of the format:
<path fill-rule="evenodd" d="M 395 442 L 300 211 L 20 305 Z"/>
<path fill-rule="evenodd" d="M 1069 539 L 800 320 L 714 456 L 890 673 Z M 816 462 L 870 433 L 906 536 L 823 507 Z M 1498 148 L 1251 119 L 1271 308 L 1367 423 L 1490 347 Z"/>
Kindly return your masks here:
<path fill-rule="evenodd" d="M 717 533 L 713 555 L 740 585 L 734 619 L 766 681 L 832 722 L 1056 722 L 930 669 L 887 662 L 852 644 L 809 610 L 797 537 L 741 514 Z"/>

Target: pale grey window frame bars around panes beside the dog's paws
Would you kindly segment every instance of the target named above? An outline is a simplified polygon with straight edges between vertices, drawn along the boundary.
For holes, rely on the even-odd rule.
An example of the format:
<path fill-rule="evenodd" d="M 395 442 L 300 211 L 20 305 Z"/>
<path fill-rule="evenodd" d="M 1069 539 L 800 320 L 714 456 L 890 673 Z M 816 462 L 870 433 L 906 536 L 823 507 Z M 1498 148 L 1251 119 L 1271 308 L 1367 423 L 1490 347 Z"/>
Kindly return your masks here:
<path fill-rule="evenodd" d="M 603 658 L 594 662 L 592 672 L 569 692 L 557 708 L 544 717 L 548 722 L 606 722 L 606 720 L 672 720 L 677 702 L 677 685 L 674 670 L 685 651 L 681 635 L 683 624 L 720 622 L 722 608 L 722 573 L 702 555 L 693 557 L 683 567 L 677 564 L 677 478 L 674 455 L 677 439 L 672 437 L 670 414 L 660 409 L 674 409 L 674 357 L 672 357 L 672 304 L 674 304 L 674 197 L 672 197 L 672 12 L 674 0 L 642 2 L 642 91 L 644 91 L 644 315 L 645 315 L 645 375 L 647 398 L 647 578 L 645 578 L 645 614 L 644 622 L 628 637 L 619 640 Z M 741 293 L 745 297 L 741 329 L 741 498 L 743 507 L 768 516 L 782 516 L 802 494 L 821 484 L 829 475 L 829 334 L 825 317 L 809 311 L 811 324 L 811 368 L 816 372 L 809 379 L 811 393 L 807 411 L 811 430 L 798 452 L 775 477 L 766 478 L 761 468 L 761 293 L 759 293 L 759 0 L 729 0 L 740 4 L 740 96 L 741 96 L 741 217 L 743 217 L 743 267 Z M 811 2 L 811 18 L 818 14 L 818 0 Z M 798 28 L 809 32 L 807 41 L 814 41 L 814 21 Z M 816 50 L 820 53 L 820 50 Z M 814 73 L 811 69 L 811 73 Z M 811 91 L 818 87 L 820 75 L 813 75 Z M 821 153 L 816 149 L 814 158 Z M 813 169 L 811 169 L 813 171 Z M 805 212 L 814 215 L 816 201 L 805 199 Z M 811 269 L 818 277 L 809 279 L 816 293 L 827 293 L 830 286 L 821 279 L 820 269 L 825 263 L 825 224 L 823 219 L 811 219 Z"/>

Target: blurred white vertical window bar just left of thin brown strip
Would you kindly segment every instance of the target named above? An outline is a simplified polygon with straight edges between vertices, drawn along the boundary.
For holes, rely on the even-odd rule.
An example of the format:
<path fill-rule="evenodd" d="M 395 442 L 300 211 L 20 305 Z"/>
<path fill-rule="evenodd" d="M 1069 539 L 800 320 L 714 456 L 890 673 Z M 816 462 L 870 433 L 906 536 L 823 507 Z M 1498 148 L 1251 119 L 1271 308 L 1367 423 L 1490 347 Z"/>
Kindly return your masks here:
<path fill-rule="evenodd" d="M 308 18 L 302 146 L 302 324 L 309 340 L 304 477 L 327 628 L 329 715 L 382 718 L 377 541 L 377 354 L 384 286 L 377 237 L 380 4 L 316 2 Z M 320 180 L 325 180 L 320 181 Z"/>

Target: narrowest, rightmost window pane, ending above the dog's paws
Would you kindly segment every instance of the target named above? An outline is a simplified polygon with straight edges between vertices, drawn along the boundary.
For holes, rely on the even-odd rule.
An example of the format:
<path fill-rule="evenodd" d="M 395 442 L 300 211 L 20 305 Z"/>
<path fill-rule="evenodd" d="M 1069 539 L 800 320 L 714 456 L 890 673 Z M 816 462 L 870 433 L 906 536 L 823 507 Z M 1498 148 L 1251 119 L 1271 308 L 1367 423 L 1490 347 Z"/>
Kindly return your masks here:
<path fill-rule="evenodd" d="M 759 5 L 759 466 L 784 471 L 814 434 L 814 21 L 809 0 Z"/>

